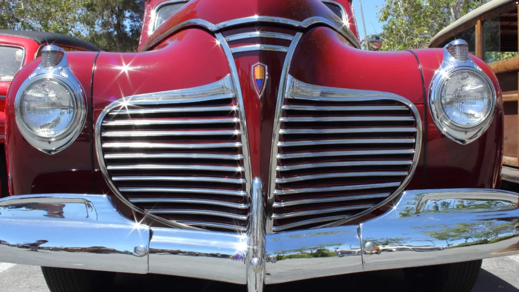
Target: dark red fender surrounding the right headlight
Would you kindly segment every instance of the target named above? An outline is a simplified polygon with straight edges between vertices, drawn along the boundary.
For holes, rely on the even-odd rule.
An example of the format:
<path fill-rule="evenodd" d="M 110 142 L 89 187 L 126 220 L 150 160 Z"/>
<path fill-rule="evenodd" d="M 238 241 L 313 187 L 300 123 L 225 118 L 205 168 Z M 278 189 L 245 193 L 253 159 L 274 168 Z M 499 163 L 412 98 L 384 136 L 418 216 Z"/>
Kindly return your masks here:
<path fill-rule="evenodd" d="M 430 83 L 443 60 L 443 49 L 414 50 L 424 72 L 427 96 L 427 165 L 424 188 L 499 188 L 503 145 L 503 108 L 501 89 L 495 74 L 475 56 L 474 62 L 490 76 L 497 92 L 494 120 L 477 140 L 458 144 L 442 134 L 429 109 Z"/>

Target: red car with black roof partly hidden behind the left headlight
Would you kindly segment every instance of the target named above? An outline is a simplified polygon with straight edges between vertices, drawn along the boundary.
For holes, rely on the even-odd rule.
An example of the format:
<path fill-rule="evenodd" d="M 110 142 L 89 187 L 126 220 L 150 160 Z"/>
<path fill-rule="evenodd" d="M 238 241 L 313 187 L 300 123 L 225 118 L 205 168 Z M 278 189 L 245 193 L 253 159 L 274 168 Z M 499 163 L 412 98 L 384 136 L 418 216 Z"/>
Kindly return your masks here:
<path fill-rule="evenodd" d="M 4 165 L 5 97 L 12 78 L 23 65 L 42 56 L 47 45 L 61 47 L 65 51 L 99 51 L 94 45 L 78 38 L 59 33 L 0 30 L 0 183 L 2 197 L 8 195 L 7 173 Z"/>

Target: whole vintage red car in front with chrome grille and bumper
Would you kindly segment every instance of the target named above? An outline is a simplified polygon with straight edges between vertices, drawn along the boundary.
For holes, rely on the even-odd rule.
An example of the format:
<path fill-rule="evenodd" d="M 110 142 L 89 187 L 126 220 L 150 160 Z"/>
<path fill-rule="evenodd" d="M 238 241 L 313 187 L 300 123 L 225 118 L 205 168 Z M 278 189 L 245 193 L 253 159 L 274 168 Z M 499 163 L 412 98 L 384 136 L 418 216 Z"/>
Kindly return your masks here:
<path fill-rule="evenodd" d="M 46 46 L 7 96 L 0 262 L 51 290 L 404 268 L 470 291 L 519 251 L 496 76 L 462 40 L 362 50 L 355 23 L 350 0 L 151 0 L 139 52 Z"/>

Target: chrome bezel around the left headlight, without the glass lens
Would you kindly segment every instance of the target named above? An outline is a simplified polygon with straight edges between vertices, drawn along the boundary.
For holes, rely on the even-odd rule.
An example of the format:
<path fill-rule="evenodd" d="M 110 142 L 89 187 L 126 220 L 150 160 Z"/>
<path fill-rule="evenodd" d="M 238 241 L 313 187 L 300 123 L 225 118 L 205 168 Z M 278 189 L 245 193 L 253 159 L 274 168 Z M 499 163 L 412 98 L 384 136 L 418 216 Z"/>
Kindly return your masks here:
<path fill-rule="evenodd" d="M 39 64 L 34 72 L 22 83 L 15 98 L 15 120 L 22 136 L 27 140 L 33 147 L 43 151 L 47 154 L 54 154 L 67 148 L 72 142 L 79 136 L 81 129 L 83 128 L 86 116 L 87 116 L 87 102 L 85 96 L 85 90 L 70 70 L 69 64 L 66 59 L 65 51 L 57 46 L 47 46 L 47 51 L 56 50 L 63 54 L 63 58 L 60 62 L 53 67 L 43 67 Z M 67 129 L 57 136 L 53 137 L 42 137 L 33 132 L 21 118 L 21 97 L 26 88 L 32 84 L 42 81 L 51 80 L 57 82 L 61 86 L 64 86 L 69 90 L 72 100 L 74 102 L 75 112 L 73 115 L 72 122 L 67 126 Z"/>

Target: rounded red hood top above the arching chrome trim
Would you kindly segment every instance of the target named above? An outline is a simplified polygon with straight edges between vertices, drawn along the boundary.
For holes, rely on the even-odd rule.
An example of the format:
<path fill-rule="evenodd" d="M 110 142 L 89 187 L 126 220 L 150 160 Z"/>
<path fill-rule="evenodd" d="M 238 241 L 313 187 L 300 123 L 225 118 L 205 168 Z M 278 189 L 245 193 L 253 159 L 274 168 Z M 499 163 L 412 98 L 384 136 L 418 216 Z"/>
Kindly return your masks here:
<path fill-rule="evenodd" d="M 222 7 L 226 7 L 222 9 Z M 215 13 L 214 11 L 218 11 Z M 146 13 L 149 15 L 149 13 Z M 304 21 L 310 17 L 326 19 L 337 16 L 319 0 L 192 0 L 150 34 L 150 17 L 145 19 L 139 50 L 168 36 L 168 30 L 185 21 L 203 19 L 218 24 L 238 18 L 268 16 Z M 146 37 L 146 34 L 148 36 Z"/>

